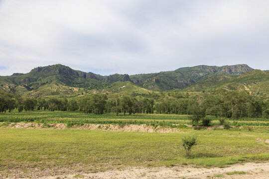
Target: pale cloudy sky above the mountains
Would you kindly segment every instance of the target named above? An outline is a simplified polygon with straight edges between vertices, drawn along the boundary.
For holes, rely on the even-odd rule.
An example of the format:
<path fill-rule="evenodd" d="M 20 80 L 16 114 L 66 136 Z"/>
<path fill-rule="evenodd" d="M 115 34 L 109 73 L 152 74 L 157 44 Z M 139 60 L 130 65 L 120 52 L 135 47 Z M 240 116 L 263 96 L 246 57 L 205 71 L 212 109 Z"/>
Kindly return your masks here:
<path fill-rule="evenodd" d="M 0 0 L 0 76 L 196 65 L 269 70 L 269 0 Z"/>

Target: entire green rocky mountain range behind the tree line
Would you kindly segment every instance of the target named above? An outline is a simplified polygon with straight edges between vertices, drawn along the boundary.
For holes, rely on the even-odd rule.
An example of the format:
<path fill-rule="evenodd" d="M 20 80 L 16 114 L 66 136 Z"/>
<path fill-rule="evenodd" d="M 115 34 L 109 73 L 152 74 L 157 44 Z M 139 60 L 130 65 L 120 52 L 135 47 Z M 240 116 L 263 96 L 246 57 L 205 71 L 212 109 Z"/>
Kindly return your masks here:
<path fill-rule="evenodd" d="M 269 72 L 248 65 L 179 68 L 151 74 L 102 76 L 57 64 L 37 67 L 27 74 L 0 76 L 0 89 L 27 96 L 75 96 L 90 92 L 208 91 L 216 88 L 246 89 L 267 94 Z"/>

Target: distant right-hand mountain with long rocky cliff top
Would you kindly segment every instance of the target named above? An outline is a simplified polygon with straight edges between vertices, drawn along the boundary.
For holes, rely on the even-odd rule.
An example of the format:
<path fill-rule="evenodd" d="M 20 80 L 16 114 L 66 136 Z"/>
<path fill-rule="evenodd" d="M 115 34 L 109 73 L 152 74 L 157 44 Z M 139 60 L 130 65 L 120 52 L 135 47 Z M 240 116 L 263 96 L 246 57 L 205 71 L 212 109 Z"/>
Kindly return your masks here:
<path fill-rule="evenodd" d="M 171 90 L 183 89 L 206 78 L 227 75 L 235 77 L 237 75 L 252 71 L 248 65 L 232 66 L 206 66 L 179 68 L 175 71 L 159 72 L 154 74 L 132 75 L 130 79 L 140 87 L 151 90 Z"/>

